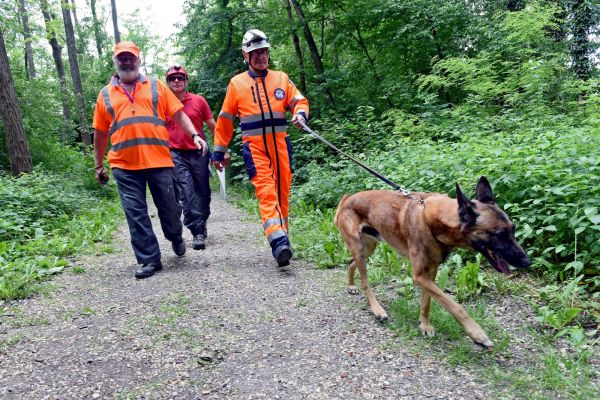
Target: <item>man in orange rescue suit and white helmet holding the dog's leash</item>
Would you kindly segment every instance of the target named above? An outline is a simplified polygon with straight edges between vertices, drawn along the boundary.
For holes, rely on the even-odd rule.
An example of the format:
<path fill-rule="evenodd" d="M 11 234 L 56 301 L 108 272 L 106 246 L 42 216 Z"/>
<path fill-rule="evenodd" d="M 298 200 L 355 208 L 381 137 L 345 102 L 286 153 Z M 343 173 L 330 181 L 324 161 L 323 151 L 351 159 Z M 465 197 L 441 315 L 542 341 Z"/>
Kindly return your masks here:
<path fill-rule="evenodd" d="M 287 74 L 269 70 L 269 40 L 258 29 L 242 39 L 248 71 L 234 76 L 217 119 L 212 162 L 221 170 L 233 136 L 233 119 L 242 129 L 246 171 L 256 190 L 265 235 L 280 267 L 289 265 L 288 211 L 292 185 L 292 145 L 286 133 L 286 110 L 301 127 L 308 118 L 308 100 Z"/>

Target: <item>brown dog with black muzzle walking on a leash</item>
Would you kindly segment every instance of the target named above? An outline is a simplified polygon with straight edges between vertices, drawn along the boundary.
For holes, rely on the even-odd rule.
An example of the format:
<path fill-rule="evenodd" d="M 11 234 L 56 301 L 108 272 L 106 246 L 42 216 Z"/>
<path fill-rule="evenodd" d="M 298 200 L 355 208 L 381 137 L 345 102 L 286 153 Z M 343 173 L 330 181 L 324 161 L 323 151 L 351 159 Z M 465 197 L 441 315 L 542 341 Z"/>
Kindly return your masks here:
<path fill-rule="evenodd" d="M 487 334 L 465 309 L 436 284 L 439 265 L 455 247 L 472 248 L 498 271 L 510 274 L 507 264 L 527 268 L 531 261 L 517 243 L 514 225 L 494 200 L 489 182 L 481 177 L 476 199 L 469 200 L 456 185 L 456 199 L 440 193 L 372 190 L 344 195 L 334 222 L 352 254 L 348 267 L 348 293 L 357 294 L 354 273 L 358 267 L 362 289 L 379 321 L 388 316 L 367 278 L 366 260 L 378 241 L 384 240 L 410 259 L 412 278 L 422 289 L 419 328 L 434 335 L 429 321 L 431 297 L 463 326 L 467 335 L 483 348 L 493 347 Z"/>

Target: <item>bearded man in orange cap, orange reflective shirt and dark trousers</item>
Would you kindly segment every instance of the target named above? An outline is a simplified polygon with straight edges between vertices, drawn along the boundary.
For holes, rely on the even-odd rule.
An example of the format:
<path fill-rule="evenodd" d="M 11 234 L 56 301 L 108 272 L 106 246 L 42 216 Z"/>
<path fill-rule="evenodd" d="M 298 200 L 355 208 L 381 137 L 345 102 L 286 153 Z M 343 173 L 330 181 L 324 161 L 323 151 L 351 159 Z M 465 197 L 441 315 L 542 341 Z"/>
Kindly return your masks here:
<path fill-rule="evenodd" d="M 162 231 L 178 256 L 185 254 L 181 236 L 181 206 L 175 199 L 173 160 L 169 152 L 166 118 L 171 117 L 206 155 L 208 146 L 182 111 L 182 104 L 164 83 L 140 74 L 140 50 L 120 42 L 113 52 L 117 73 L 98 95 L 94 112 L 96 180 L 104 185 L 108 172 L 103 160 L 108 138 L 108 162 L 117 182 L 131 234 L 131 245 L 141 266 L 138 279 L 162 269 L 161 254 L 146 204 L 146 186 L 158 211 Z"/>

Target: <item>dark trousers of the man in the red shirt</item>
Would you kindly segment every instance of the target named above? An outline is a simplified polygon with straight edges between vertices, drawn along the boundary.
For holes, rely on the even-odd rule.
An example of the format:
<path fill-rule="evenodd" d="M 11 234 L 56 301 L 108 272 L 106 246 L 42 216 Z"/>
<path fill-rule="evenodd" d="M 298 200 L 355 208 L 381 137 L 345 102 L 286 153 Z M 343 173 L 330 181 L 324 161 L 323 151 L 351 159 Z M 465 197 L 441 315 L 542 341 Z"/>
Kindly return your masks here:
<path fill-rule="evenodd" d="M 202 154 L 195 150 L 171 150 L 171 155 L 183 203 L 183 223 L 192 235 L 205 234 L 211 200 L 209 157 L 202 157 Z"/>

